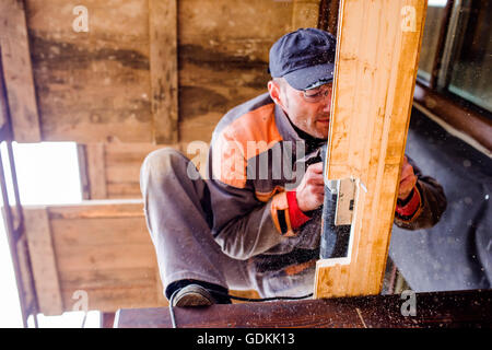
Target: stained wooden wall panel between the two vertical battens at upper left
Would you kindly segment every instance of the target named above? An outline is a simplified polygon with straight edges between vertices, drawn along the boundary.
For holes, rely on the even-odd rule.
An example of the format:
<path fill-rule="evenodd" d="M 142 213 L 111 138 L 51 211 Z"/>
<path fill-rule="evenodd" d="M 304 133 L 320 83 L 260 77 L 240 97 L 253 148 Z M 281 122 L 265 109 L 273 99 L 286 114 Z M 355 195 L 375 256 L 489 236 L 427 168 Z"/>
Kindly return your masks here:
<path fill-rule="evenodd" d="M 147 1 L 25 2 L 44 140 L 153 142 Z"/>

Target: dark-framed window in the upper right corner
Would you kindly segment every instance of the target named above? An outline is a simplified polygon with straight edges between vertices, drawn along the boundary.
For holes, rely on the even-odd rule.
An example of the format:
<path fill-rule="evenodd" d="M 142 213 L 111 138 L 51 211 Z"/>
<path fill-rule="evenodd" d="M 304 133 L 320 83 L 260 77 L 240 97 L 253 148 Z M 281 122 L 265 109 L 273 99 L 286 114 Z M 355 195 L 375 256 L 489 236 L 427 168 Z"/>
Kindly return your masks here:
<path fill-rule="evenodd" d="M 492 1 L 429 0 L 418 81 L 491 118 Z"/>

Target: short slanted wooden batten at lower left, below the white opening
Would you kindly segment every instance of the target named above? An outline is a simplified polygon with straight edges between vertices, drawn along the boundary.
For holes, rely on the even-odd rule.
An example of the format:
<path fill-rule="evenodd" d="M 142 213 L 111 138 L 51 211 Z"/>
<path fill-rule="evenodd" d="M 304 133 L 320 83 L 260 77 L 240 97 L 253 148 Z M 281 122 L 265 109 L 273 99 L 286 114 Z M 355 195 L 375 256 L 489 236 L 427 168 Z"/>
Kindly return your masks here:
<path fill-rule="evenodd" d="M 24 224 L 39 312 L 45 315 L 59 315 L 62 313 L 63 302 L 46 209 L 24 210 Z"/>

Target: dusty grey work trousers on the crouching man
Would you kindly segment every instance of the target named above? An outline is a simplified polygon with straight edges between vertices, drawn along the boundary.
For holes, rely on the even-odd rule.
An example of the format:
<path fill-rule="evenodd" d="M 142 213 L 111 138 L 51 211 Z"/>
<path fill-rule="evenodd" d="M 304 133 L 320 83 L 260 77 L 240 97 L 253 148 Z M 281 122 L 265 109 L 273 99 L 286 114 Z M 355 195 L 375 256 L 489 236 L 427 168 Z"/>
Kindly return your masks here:
<path fill-rule="evenodd" d="M 211 233 L 207 183 L 191 179 L 189 165 L 194 166 L 185 155 L 165 148 L 150 153 L 141 167 L 145 219 L 164 291 L 175 281 L 194 279 L 225 289 L 256 290 L 261 296 L 312 292 L 314 269 L 290 279 L 266 279 L 256 273 L 254 258 L 238 260 L 222 252 Z"/>

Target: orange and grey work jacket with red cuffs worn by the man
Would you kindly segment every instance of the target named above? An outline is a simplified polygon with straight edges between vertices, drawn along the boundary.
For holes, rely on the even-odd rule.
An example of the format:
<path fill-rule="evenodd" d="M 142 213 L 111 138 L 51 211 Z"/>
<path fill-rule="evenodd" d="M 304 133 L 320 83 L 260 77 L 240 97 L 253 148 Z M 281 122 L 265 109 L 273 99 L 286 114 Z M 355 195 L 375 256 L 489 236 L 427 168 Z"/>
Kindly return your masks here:
<path fill-rule="evenodd" d="M 274 260 L 284 255 L 280 265 L 285 266 L 301 262 L 290 257 L 305 260 L 318 254 L 320 210 L 303 213 L 295 187 L 306 166 L 320 161 L 326 141 L 302 135 L 268 93 L 233 108 L 218 124 L 207 183 L 212 234 L 226 255 L 269 256 L 270 266 L 278 266 Z M 438 221 L 446 198 L 437 182 L 412 165 L 418 185 L 406 202 L 398 202 L 395 223 L 415 230 Z"/>

